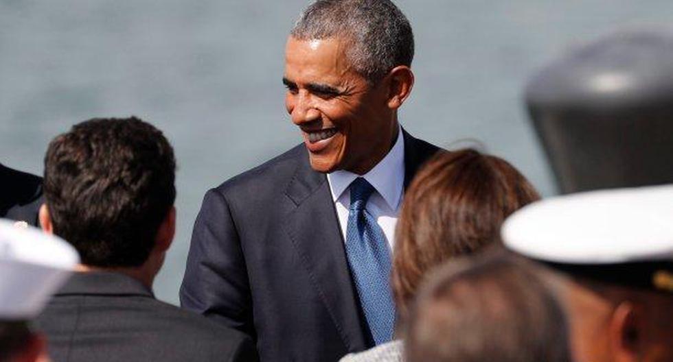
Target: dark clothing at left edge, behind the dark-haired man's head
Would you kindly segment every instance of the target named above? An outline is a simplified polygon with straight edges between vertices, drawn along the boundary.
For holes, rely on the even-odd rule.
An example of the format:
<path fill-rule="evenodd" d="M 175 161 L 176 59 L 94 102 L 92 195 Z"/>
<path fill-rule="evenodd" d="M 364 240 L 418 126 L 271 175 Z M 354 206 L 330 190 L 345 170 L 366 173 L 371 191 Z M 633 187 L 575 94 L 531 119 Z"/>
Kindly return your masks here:
<path fill-rule="evenodd" d="M 0 217 L 38 226 L 42 178 L 0 164 Z"/>

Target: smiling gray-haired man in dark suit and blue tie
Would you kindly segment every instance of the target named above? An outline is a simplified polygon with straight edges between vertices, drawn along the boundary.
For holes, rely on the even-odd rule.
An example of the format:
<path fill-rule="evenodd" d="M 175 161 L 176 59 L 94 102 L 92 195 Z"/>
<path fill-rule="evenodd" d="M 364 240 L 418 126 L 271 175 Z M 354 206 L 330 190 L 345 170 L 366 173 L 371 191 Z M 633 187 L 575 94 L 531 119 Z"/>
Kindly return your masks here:
<path fill-rule="evenodd" d="M 398 123 L 412 58 L 390 1 L 312 3 L 283 75 L 304 144 L 205 195 L 181 303 L 249 334 L 262 361 L 336 361 L 393 336 L 398 210 L 437 151 Z"/>

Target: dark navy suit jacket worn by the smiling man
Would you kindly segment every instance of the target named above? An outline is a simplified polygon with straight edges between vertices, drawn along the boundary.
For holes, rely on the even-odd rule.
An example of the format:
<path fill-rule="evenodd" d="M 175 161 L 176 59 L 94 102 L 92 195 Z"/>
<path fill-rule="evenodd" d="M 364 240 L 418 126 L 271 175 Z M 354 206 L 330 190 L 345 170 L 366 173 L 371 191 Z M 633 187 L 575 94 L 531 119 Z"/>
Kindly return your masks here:
<path fill-rule="evenodd" d="M 405 186 L 436 151 L 404 132 Z M 206 193 L 180 300 L 253 337 L 260 360 L 372 346 L 356 296 L 327 177 L 304 145 Z"/>

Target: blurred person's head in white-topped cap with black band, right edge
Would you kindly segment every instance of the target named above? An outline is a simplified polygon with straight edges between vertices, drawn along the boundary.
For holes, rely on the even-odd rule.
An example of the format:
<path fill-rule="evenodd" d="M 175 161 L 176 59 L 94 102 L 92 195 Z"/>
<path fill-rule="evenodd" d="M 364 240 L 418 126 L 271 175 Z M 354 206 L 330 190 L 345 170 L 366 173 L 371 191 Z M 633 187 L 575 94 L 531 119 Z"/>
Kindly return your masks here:
<path fill-rule="evenodd" d="M 505 221 L 554 271 L 579 362 L 673 361 L 673 186 L 554 197 Z"/>

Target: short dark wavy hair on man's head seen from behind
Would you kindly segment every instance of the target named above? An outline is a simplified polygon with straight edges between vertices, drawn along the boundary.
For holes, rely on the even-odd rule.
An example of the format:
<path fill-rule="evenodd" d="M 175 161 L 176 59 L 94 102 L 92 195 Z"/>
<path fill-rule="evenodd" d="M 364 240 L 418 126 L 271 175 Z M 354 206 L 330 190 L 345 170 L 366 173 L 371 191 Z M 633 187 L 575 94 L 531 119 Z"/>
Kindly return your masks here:
<path fill-rule="evenodd" d="M 175 200 L 173 149 L 135 117 L 91 119 L 54 138 L 44 190 L 54 233 L 82 263 L 137 267 Z"/>

